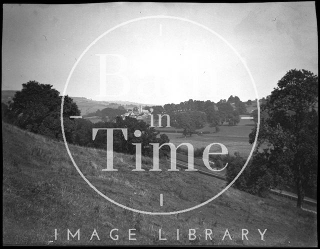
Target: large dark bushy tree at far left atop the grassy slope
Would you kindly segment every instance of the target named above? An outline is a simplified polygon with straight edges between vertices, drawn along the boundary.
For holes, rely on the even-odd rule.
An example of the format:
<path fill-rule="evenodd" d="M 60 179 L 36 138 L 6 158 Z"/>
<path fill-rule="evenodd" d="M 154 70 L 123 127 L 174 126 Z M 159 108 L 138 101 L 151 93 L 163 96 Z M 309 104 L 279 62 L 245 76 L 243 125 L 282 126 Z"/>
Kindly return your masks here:
<path fill-rule="evenodd" d="M 13 124 L 34 133 L 51 138 L 62 139 L 60 124 L 61 96 L 50 84 L 28 81 L 22 84 L 10 103 L 9 109 L 14 116 Z M 67 95 L 63 102 L 64 134 L 67 141 L 72 141 L 75 121 L 69 116 L 80 115 L 73 100 Z"/>

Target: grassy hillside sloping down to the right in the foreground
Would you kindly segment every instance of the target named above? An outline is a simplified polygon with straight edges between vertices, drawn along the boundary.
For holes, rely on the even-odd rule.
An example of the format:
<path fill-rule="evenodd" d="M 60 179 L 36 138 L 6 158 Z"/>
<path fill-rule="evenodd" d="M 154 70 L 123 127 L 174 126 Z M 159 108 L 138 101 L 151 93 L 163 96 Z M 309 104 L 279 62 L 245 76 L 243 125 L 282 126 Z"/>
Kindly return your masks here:
<path fill-rule="evenodd" d="M 3 243 L 4 244 L 176 244 L 176 245 L 309 245 L 316 246 L 316 214 L 298 210 L 294 202 L 264 199 L 229 188 L 212 202 L 176 215 L 146 215 L 128 211 L 100 197 L 80 177 L 64 144 L 2 122 Z M 131 171 L 134 157 L 114 153 L 115 172 L 101 171 L 105 151 L 69 146 L 84 175 L 101 192 L 131 207 L 147 211 L 179 210 L 210 198 L 224 181 L 196 172 Z M 142 158 L 142 168 L 151 167 Z M 161 168 L 168 167 L 161 163 Z M 159 194 L 163 194 L 163 206 Z M 54 240 L 54 229 L 57 240 Z M 67 240 L 67 228 L 80 229 L 80 240 Z M 90 236 L 96 229 L 100 240 Z M 118 240 L 109 237 L 118 229 Z M 128 240 L 128 229 L 137 240 Z M 158 239 L 158 229 L 162 236 Z M 179 240 L 176 240 L 176 229 Z M 188 229 L 197 238 L 188 240 Z M 212 229 L 205 240 L 204 229 Z M 222 240 L 228 228 L 232 240 Z M 241 240 L 241 229 L 248 239 Z M 264 241 L 257 231 L 267 228 Z M 52 242 L 49 242 L 52 241 Z"/>

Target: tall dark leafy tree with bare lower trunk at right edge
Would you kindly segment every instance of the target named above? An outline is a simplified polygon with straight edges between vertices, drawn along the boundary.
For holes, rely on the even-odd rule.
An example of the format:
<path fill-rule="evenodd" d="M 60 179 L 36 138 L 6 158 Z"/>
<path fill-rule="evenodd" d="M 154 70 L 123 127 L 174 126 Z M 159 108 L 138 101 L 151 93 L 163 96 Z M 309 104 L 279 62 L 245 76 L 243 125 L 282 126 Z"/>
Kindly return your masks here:
<path fill-rule="evenodd" d="M 274 170 L 281 175 L 281 180 L 294 183 L 296 206 L 299 208 L 302 207 L 306 187 L 316 184 L 317 92 L 317 75 L 303 69 L 292 69 L 278 81 L 277 88 L 265 99 L 262 111 L 265 110 L 268 117 L 260 120 L 255 156 L 262 156 L 263 153 L 266 159 L 264 165 L 268 168 L 276 165 Z M 255 130 L 249 135 L 251 143 Z"/>

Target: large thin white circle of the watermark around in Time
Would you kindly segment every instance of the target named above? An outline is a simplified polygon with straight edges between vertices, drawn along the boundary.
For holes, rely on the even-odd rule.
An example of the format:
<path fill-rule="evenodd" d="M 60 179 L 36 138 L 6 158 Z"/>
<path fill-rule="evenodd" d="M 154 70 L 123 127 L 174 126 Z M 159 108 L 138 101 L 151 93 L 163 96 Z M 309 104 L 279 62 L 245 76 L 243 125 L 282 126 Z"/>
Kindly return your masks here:
<path fill-rule="evenodd" d="M 192 23 L 194 25 L 197 25 L 199 27 L 202 27 L 203 29 L 209 31 L 210 33 L 216 35 L 218 38 L 220 38 L 222 41 L 224 41 L 229 48 L 232 49 L 232 51 L 236 54 L 236 56 L 239 58 L 239 60 L 242 62 L 243 66 L 245 67 L 247 73 L 249 74 L 249 77 L 250 77 L 250 80 L 251 80 L 251 83 L 252 83 L 252 86 L 253 86 L 253 89 L 254 89 L 254 92 L 255 92 L 255 95 L 256 95 L 256 105 L 257 105 L 257 110 L 258 110 L 258 118 L 257 118 L 257 126 L 256 126 L 256 133 L 255 133 L 255 138 L 254 138 L 254 142 L 253 142 L 253 145 L 252 145 L 252 148 L 251 148 L 251 151 L 249 153 L 249 156 L 248 158 L 246 159 L 243 167 L 241 168 L 241 170 L 239 171 L 239 173 L 234 177 L 234 179 L 227 185 L 225 186 L 225 188 L 223 188 L 219 193 L 217 193 L 216 195 L 214 195 L 213 197 L 211 197 L 210 199 L 198 204 L 198 205 L 195 205 L 195 206 L 192 206 L 192 207 L 189 207 L 189 208 L 186 208 L 186 209 L 182 209 L 182 210 L 178 210 L 178 211 L 172 211 L 172 212 L 149 212 L 149 211 L 143 211 L 143 210 L 139 210 L 139 209 L 134 209 L 134 208 L 131 208 L 131 207 L 128 207 L 128 206 L 125 206 L 123 204 L 120 204 L 114 200 L 112 200 L 111 198 L 107 197 L 106 195 L 104 195 L 102 192 L 100 192 L 95 186 L 92 185 L 92 183 L 83 175 L 83 173 L 81 172 L 81 170 L 78 168 L 78 166 L 76 165 L 72 155 L 71 155 L 71 152 L 69 150 L 69 147 L 68 147 L 68 144 L 66 142 L 66 139 L 65 139 L 65 134 L 64 134 L 64 126 L 63 126 L 63 103 L 64 103 L 64 96 L 65 96 L 65 92 L 66 92 L 66 88 L 67 88 L 67 85 L 70 81 L 70 78 L 72 76 L 72 73 L 75 69 L 75 67 L 77 66 L 77 64 L 79 63 L 79 61 L 81 60 L 81 58 L 83 57 L 83 55 L 90 49 L 90 47 L 92 45 L 94 45 L 100 38 L 102 38 L 104 35 L 108 34 L 109 32 L 113 31 L 114 29 L 118 28 L 118 27 L 121 27 L 121 26 L 124 26 L 128 23 L 131 23 L 131 22 L 135 22 L 135 21 L 139 21 L 139 20 L 145 20 L 145 19 L 156 19 L 156 18 L 167 18 L 167 19 L 176 19 L 176 20 L 181 20 L 181 21 L 185 21 L 185 22 L 189 22 L 189 23 Z M 76 170 L 78 171 L 78 173 L 81 175 L 81 177 L 84 179 L 84 181 L 94 190 L 96 191 L 99 195 L 101 195 L 103 198 L 107 199 L 108 201 L 110 201 L 111 203 L 113 204 L 116 204 L 117 206 L 120 206 L 122 208 L 125 208 L 127 210 L 130 210 L 130 211 L 134 211 L 134 212 L 138 212 L 138 213 L 143 213 L 143 214 L 152 214 L 152 215 L 170 215 L 170 214 L 177 214 L 177 213 L 183 213 L 183 212 L 186 212 L 186 211 L 191 211 L 191 210 L 194 210 L 198 207 L 201 207 L 209 202 L 211 202 L 212 200 L 214 200 L 215 198 L 217 198 L 218 196 L 220 196 L 222 193 L 224 193 L 233 183 L 234 181 L 240 176 L 240 174 L 243 172 L 243 170 L 245 169 L 246 165 L 248 164 L 251 156 L 252 156 L 252 153 L 254 151 L 254 148 L 255 148 L 255 145 L 256 145 L 256 141 L 257 141 L 257 138 L 258 138 L 258 133 L 259 133 L 259 125 L 260 125 L 260 105 L 259 105 L 259 97 L 258 97 L 258 94 L 257 94 L 257 90 L 256 90 L 256 86 L 255 86 L 255 82 L 254 82 L 254 79 L 252 77 L 252 74 L 249 70 L 249 68 L 247 67 L 246 65 L 246 62 L 245 60 L 240 56 L 240 54 L 235 50 L 235 48 L 226 40 L 224 39 L 220 34 L 218 34 L 217 32 L 213 31 L 212 29 L 210 29 L 209 27 L 203 25 L 203 24 L 200 24 L 196 21 L 192 21 L 192 20 L 189 20 L 189 19 L 186 19 L 186 18 L 182 18 L 182 17 L 177 17 L 177 16 L 171 16 L 171 15 L 151 15 L 151 16 L 144 16 L 144 17 L 138 17 L 138 18 L 134 18 L 134 19 L 130 19 L 130 20 L 127 20 L 127 21 L 124 21 L 110 29 L 108 29 L 107 31 L 105 31 L 104 33 L 102 33 L 100 36 L 98 36 L 96 39 L 94 39 L 85 49 L 84 51 L 80 54 L 79 58 L 76 60 L 76 62 L 74 63 L 74 65 L 72 66 L 71 68 L 71 71 L 66 79 L 66 82 L 65 82 L 65 85 L 64 85 L 64 89 L 63 89 L 63 94 L 62 94 L 62 99 L 61 99 L 61 109 L 60 109 L 60 120 L 61 120 L 61 130 L 62 130 L 62 137 L 63 137 L 63 141 L 64 141 L 64 145 L 65 145 L 65 148 L 68 152 L 68 155 L 74 165 L 74 167 L 76 168 Z"/>

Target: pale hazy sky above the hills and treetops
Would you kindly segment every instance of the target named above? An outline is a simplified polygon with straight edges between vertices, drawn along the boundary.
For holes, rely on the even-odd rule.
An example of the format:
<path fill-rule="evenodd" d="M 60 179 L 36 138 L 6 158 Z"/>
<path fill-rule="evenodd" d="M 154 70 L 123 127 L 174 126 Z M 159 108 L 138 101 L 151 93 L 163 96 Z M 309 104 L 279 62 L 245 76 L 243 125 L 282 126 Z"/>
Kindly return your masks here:
<path fill-rule="evenodd" d="M 110 28 L 154 15 L 173 18 L 123 24 L 79 60 Z M 256 94 L 237 54 L 259 97 L 289 69 L 318 73 L 314 2 L 4 4 L 2 30 L 2 90 L 36 80 L 62 93 L 77 62 L 70 96 L 164 104 L 232 94 L 246 101 Z"/>

